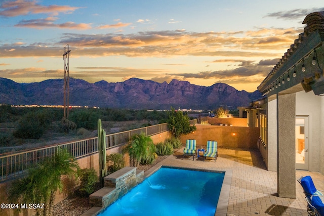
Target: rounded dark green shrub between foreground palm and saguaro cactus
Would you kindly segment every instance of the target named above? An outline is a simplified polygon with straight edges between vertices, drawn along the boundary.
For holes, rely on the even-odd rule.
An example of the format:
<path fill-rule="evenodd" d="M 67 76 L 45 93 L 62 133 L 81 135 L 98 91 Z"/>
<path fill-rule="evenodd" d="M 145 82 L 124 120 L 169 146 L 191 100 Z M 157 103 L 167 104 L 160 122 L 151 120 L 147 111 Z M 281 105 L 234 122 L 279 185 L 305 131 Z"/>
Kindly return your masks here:
<path fill-rule="evenodd" d="M 94 168 L 85 168 L 80 169 L 79 173 L 80 178 L 80 194 L 83 196 L 89 196 L 93 192 L 95 192 L 96 184 L 98 182 L 98 177 L 96 174 L 96 170 Z"/>

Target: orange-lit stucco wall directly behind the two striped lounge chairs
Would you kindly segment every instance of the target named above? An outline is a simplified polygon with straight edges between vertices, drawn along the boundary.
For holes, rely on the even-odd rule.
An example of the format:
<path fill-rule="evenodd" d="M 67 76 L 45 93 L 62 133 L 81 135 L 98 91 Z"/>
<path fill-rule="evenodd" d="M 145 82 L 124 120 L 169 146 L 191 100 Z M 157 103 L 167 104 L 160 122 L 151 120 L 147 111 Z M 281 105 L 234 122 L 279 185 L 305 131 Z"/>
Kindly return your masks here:
<path fill-rule="evenodd" d="M 181 136 L 181 142 L 187 139 L 197 141 L 197 148 L 207 145 L 207 141 L 215 140 L 219 147 L 257 149 L 259 127 L 237 127 L 196 124 L 197 130 Z"/>

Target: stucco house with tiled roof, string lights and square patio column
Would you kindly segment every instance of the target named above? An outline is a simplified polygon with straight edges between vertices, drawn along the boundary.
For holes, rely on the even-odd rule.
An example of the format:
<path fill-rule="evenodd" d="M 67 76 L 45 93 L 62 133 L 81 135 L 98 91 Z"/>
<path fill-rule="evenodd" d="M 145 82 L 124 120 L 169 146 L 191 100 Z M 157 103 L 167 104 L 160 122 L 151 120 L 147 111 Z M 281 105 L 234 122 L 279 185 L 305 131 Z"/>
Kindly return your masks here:
<path fill-rule="evenodd" d="M 307 15 L 304 32 L 258 90 L 260 152 L 277 172 L 278 196 L 296 198 L 296 169 L 324 175 L 324 12 Z"/>

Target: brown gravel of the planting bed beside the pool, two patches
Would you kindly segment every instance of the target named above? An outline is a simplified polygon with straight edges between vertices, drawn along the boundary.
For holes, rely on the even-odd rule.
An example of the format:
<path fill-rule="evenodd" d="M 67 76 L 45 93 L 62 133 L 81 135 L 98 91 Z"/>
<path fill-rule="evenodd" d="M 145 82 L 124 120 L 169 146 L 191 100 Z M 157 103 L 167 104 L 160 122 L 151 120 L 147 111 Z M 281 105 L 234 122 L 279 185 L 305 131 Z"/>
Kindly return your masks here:
<path fill-rule="evenodd" d="M 139 170 L 148 170 L 156 163 L 163 161 L 169 155 L 157 156 L 155 161 L 149 165 L 139 165 L 137 169 Z M 78 216 L 90 209 L 89 197 L 73 197 L 66 198 L 65 200 L 57 203 L 53 208 L 53 215 L 64 215 L 64 216 Z"/>

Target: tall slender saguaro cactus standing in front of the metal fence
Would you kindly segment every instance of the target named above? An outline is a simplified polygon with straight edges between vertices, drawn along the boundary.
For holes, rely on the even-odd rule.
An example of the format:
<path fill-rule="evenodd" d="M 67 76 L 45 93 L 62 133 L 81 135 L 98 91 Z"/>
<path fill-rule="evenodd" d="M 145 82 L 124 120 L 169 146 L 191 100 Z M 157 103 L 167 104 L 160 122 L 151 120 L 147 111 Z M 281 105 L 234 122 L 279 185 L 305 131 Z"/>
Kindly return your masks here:
<path fill-rule="evenodd" d="M 101 119 L 98 119 L 98 150 L 99 150 L 99 175 L 100 184 L 103 187 L 103 178 L 107 175 L 107 162 L 106 162 L 106 132 L 102 128 Z"/>

